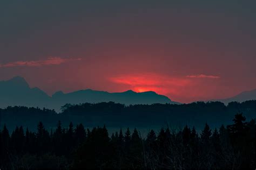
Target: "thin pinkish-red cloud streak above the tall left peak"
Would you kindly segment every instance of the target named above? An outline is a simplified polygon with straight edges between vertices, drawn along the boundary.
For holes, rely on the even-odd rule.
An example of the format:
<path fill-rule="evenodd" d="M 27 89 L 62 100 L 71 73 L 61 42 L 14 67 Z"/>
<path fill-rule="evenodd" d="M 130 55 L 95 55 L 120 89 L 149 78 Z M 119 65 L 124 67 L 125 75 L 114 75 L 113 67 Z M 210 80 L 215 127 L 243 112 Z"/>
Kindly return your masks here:
<path fill-rule="evenodd" d="M 49 65 L 60 65 L 69 61 L 79 61 L 82 60 L 80 58 L 60 58 L 57 56 L 51 56 L 46 60 L 37 60 L 37 61 L 15 61 L 5 63 L 3 65 L 0 64 L 0 68 L 2 67 L 40 67 L 40 66 L 49 66 Z"/>

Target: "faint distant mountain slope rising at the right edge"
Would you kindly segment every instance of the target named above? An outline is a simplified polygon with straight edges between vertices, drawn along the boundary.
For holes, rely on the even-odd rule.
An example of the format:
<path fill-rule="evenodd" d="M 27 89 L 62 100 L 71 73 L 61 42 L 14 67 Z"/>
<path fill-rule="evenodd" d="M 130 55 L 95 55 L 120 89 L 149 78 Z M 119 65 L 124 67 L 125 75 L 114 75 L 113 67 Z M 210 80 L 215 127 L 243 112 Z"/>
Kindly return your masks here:
<path fill-rule="evenodd" d="M 228 104 L 230 102 L 245 102 L 250 100 L 256 100 L 256 89 L 250 91 L 244 91 L 238 95 L 235 95 L 230 98 L 224 98 L 220 100 L 211 100 L 211 101 L 220 101 L 224 104 Z"/>

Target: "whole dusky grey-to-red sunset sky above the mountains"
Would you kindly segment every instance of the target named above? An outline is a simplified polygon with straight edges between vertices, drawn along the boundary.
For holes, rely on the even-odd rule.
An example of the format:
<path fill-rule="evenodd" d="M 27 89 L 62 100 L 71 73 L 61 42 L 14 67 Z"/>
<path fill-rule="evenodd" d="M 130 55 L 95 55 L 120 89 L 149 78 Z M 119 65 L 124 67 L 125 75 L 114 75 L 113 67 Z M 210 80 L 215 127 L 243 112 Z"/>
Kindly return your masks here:
<path fill-rule="evenodd" d="M 256 89 L 254 1 L 1 1 L 0 80 L 49 95 L 156 91 L 189 103 Z"/>

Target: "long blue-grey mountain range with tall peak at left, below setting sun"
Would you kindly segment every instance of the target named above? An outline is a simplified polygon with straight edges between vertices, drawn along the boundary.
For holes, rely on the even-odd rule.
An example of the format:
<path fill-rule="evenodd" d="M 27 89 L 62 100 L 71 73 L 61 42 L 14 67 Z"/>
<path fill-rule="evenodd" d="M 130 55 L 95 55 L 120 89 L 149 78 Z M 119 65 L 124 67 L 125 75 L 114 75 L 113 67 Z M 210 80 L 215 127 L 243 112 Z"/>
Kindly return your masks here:
<path fill-rule="evenodd" d="M 153 104 L 153 103 L 175 103 L 170 98 L 159 95 L 154 91 L 136 93 L 128 90 L 123 93 L 109 93 L 107 91 L 79 90 L 72 93 L 57 91 L 48 96 L 39 88 L 30 88 L 23 77 L 17 76 L 8 81 L 0 81 L 0 108 L 22 105 L 27 107 L 50 108 L 59 111 L 66 103 L 99 103 L 116 102 L 122 104 Z"/>

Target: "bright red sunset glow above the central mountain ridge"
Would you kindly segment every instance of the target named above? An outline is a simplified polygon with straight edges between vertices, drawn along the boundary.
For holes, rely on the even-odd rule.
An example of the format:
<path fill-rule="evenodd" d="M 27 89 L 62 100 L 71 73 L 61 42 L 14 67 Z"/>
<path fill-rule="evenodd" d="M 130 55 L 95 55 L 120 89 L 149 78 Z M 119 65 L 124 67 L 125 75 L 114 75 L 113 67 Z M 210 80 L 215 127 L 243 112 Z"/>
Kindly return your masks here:
<path fill-rule="evenodd" d="M 220 77 L 218 77 L 218 79 L 220 79 Z M 148 73 L 138 75 L 120 75 L 117 77 L 111 77 L 110 81 L 118 84 L 125 84 L 136 92 L 155 91 L 158 94 L 169 96 L 172 100 L 181 100 L 181 98 L 178 97 L 183 96 L 183 102 L 190 102 L 194 97 L 200 96 L 201 98 L 204 98 L 205 96 L 212 95 L 213 91 L 209 91 L 208 94 L 202 92 L 199 93 L 198 87 L 200 86 L 201 89 L 214 88 L 214 85 L 205 86 L 205 83 L 202 82 L 210 81 L 212 84 L 217 84 L 218 79 L 217 76 L 202 74 L 200 76 L 190 75 L 183 77 L 171 77 Z"/>

